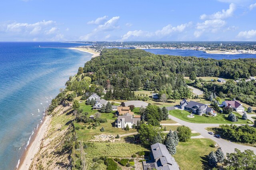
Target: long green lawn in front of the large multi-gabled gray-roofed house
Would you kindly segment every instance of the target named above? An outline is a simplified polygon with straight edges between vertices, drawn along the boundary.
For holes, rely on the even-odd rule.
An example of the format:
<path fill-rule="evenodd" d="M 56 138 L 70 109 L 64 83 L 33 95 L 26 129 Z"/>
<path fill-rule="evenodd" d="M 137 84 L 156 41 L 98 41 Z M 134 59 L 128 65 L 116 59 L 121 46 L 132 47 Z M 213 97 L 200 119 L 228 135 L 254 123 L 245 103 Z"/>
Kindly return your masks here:
<path fill-rule="evenodd" d="M 182 112 L 182 113 L 181 113 Z M 169 113 L 170 115 L 177 117 L 183 121 L 191 122 L 191 123 L 221 123 L 221 124 L 247 124 L 249 120 L 242 120 L 242 116 L 238 113 L 234 113 L 238 116 L 238 122 L 230 122 L 228 121 L 228 115 L 225 114 L 217 114 L 214 117 L 206 117 L 206 116 L 199 116 L 194 115 L 194 118 L 188 118 L 187 116 L 190 115 L 188 111 L 181 111 L 181 110 L 172 110 Z"/>

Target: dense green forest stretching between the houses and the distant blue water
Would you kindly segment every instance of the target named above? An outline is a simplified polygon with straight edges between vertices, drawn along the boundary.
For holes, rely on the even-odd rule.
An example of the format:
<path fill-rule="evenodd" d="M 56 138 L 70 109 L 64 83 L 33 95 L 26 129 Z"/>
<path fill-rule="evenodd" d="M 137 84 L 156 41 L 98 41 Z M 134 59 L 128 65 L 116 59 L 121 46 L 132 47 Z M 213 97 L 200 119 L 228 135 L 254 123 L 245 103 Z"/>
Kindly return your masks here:
<path fill-rule="evenodd" d="M 248 78 L 256 75 L 256 59 L 216 60 L 198 57 L 154 55 L 141 49 L 104 49 L 101 57 L 84 65 L 84 72 L 92 82 L 106 86 L 110 80 L 114 87 L 138 90 L 161 89 L 170 83 L 173 89 L 185 86 L 183 76 L 192 71 L 198 77 Z"/>

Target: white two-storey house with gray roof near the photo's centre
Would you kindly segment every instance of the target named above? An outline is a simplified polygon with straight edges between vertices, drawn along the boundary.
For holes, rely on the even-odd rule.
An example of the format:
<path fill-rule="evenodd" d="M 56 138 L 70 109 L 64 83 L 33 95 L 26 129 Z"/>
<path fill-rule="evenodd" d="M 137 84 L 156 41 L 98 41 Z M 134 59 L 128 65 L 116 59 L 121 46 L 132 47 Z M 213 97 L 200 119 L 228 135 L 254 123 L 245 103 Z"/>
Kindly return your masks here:
<path fill-rule="evenodd" d="M 122 116 L 118 116 L 116 119 L 116 128 L 125 128 L 127 125 L 132 128 L 132 125 L 137 125 L 140 122 L 140 115 L 131 115 L 130 113 L 125 113 Z"/>

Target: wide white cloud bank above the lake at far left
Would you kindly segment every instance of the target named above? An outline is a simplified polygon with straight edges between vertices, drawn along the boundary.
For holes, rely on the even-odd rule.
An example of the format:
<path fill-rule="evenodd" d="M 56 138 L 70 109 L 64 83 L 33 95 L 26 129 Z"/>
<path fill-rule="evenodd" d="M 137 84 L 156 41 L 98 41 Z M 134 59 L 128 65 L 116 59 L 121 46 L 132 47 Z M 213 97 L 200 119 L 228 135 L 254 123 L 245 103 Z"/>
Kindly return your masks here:
<path fill-rule="evenodd" d="M 18 41 L 51 41 L 64 38 L 56 27 L 56 22 L 43 20 L 36 23 L 4 22 L 0 24 L 0 36 L 4 38 L 13 37 Z M 7 39 L 8 40 L 8 39 Z"/>

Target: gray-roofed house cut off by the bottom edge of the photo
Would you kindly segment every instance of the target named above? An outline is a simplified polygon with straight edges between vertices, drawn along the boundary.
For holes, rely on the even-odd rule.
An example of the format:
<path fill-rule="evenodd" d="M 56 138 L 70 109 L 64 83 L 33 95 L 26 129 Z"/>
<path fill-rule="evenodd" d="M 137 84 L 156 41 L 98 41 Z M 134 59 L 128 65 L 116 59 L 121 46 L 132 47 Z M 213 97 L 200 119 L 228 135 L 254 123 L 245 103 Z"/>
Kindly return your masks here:
<path fill-rule="evenodd" d="M 157 170 L 180 170 L 178 163 L 168 152 L 164 144 L 156 143 L 151 145 L 152 155 L 154 157 L 154 164 L 150 164 L 151 168 L 156 168 Z M 145 170 L 149 170 L 146 162 L 143 162 Z M 154 167 L 152 167 L 154 166 Z"/>

